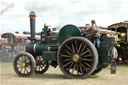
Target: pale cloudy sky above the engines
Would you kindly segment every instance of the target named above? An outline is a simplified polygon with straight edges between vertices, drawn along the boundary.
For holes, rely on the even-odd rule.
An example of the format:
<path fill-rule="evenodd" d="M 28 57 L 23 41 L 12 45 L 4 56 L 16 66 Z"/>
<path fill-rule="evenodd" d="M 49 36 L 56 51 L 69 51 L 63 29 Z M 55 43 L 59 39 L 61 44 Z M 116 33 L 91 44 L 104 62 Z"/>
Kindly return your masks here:
<path fill-rule="evenodd" d="M 84 26 L 95 19 L 107 27 L 128 20 L 128 0 L 0 0 L 0 32 L 29 31 L 29 12 L 36 12 L 36 31 L 43 24 Z"/>

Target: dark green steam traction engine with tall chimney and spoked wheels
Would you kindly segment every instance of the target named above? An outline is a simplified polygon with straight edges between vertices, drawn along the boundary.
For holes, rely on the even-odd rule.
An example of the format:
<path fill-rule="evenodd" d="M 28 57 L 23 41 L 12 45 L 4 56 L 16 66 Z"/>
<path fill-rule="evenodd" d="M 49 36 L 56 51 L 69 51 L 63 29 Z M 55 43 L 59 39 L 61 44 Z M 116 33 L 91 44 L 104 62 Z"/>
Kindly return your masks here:
<path fill-rule="evenodd" d="M 26 51 L 17 55 L 13 66 L 18 76 L 45 73 L 49 65 L 59 68 L 68 78 L 87 78 L 107 67 L 112 60 L 113 37 L 100 38 L 101 47 L 83 36 L 84 32 L 75 25 L 65 25 L 58 33 L 44 26 L 41 39 L 35 39 L 35 13 L 30 13 L 31 42 Z"/>

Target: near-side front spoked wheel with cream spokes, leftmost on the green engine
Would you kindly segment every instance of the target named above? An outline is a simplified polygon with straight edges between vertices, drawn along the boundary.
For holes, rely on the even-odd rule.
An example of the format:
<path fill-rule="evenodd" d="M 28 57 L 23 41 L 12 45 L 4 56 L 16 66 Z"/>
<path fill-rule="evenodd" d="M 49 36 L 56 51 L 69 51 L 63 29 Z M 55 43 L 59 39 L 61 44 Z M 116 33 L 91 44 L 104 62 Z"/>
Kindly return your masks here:
<path fill-rule="evenodd" d="M 34 72 L 36 62 L 31 54 L 23 52 L 15 57 L 13 67 L 18 76 L 28 77 Z"/>

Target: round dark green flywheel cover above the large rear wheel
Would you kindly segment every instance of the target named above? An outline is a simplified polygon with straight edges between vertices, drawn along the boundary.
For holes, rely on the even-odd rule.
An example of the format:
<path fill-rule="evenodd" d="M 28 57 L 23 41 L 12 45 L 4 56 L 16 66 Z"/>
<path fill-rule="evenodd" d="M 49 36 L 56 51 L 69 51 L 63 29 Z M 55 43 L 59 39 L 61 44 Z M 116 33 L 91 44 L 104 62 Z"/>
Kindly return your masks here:
<path fill-rule="evenodd" d="M 70 37 L 76 37 L 76 36 L 81 37 L 80 29 L 76 27 L 75 25 L 65 25 L 59 31 L 59 35 L 58 35 L 59 45 L 63 43 L 66 39 Z"/>

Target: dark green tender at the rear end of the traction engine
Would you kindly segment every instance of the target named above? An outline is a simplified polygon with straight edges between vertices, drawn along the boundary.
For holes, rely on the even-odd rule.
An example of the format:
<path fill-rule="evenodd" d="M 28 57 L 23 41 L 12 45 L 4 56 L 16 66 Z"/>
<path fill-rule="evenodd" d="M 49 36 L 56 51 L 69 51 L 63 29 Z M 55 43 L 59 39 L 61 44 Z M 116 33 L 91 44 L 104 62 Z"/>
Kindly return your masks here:
<path fill-rule="evenodd" d="M 99 49 L 99 64 L 107 65 L 113 58 L 112 47 L 116 45 L 115 39 L 112 37 L 103 37 L 100 41 L 101 44 Z"/>

